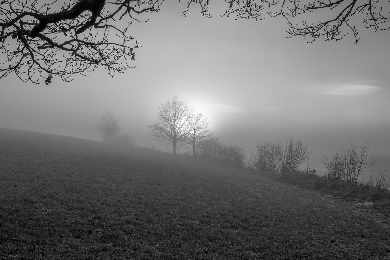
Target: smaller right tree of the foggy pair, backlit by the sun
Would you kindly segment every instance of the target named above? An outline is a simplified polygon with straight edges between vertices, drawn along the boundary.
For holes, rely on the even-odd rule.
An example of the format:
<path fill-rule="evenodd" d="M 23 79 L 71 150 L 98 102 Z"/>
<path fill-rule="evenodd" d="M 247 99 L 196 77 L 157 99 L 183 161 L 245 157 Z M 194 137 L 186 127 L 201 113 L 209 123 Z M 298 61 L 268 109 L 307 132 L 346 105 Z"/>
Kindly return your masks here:
<path fill-rule="evenodd" d="M 192 114 L 188 120 L 188 134 L 186 136 L 186 143 L 192 146 L 192 155 L 195 155 L 195 150 L 199 145 L 207 145 L 214 143 L 218 138 L 213 137 L 209 127 L 209 120 L 202 112 Z"/>

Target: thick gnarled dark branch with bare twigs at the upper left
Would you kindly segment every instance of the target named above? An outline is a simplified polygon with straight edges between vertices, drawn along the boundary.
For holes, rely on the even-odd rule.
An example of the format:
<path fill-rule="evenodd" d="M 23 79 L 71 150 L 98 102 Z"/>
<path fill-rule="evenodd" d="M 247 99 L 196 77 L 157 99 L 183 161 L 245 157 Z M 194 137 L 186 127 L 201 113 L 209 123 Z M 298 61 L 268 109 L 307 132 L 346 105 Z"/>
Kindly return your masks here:
<path fill-rule="evenodd" d="M 0 0 L 0 79 L 14 72 L 25 82 L 46 78 L 48 84 L 55 75 L 70 81 L 97 67 L 110 74 L 133 68 L 129 61 L 140 47 L 128 35 L 133 15 L 158 11 L 162 2 Z M 126 15 L 127 23 L 115 23 Z"/>

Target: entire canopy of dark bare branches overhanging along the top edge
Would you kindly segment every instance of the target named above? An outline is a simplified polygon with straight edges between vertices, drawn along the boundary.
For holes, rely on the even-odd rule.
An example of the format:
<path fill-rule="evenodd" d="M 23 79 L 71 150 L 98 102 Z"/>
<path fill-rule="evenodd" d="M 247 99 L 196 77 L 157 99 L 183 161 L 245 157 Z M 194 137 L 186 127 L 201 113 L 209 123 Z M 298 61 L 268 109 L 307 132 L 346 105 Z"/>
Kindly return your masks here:
<path fill-rule="evenodd" d="M 53 76 L 70 81 L 96 67 L 110 74 L 133 68 L 131 60 L 140 46 L 128 28 L 134 21 L 143 22 L 139 14 L 156 12 L 161 4 L 163 0 L 69 0 L 63 5 L 56 0 L 0 0 L 0 79 L 13 72 L 25 82 L 49 84 Z M 283 16 L 289 25 L 287 37 L 302 35 L 309 41 L 340 40 L 346 28 L 357 43 L 351 18 L 359 14 L 367 28 L 390 28 L 390 3 L 384 0 L 227 0 L 226 4 L 222 16 L 254 20 L 264 14 Z M 188 0 L 184 16 L 191 5 L 211 17 L 209 0 Z M 310 15 L 296 22 L 297 16 L 312 12 L 314 22 L 308 22 Z"/>

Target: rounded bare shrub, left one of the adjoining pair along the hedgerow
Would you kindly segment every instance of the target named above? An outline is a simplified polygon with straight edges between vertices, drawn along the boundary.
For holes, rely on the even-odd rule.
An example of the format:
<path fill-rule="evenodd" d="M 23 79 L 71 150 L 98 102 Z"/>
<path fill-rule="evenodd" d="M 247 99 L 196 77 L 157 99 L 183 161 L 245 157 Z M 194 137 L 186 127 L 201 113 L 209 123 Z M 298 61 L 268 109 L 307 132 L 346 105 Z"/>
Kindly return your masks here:
<path fill-rule="evenodd" d="M 267 141 L 256 144 L 250 152 L 251 164 L 261 173 L 274 173 L 279 162 L 278 144 Z"/>

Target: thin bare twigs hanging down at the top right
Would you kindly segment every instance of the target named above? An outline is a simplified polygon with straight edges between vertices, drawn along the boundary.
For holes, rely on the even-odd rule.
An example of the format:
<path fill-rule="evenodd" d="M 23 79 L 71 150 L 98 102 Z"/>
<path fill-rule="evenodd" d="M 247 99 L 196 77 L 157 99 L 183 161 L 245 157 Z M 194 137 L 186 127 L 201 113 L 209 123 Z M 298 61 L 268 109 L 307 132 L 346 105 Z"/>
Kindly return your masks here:
<path fill-rule="evenodd" d="M 192 0 L 195 2 L 195 0 Z M 271 17 L 283 16 L 288 23 L 287 38 L 301 35 L 313 42 L 318 38 L 339 41 L 349 32 L 358 43 L 356 18 L 360 16 L 365 28 L 390 28 L 390 4 L 384 0 L 228 0 L 229 9 L 223 16 L 236 19 L 261 20 L 264 13 Z M 303 20 L 302 20 L 303 18 Z M 310 19 L 314 20 L 312 22 Z M 347 32 L 344 31 L 347 30 Z"/>

